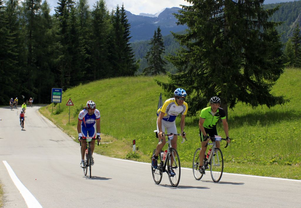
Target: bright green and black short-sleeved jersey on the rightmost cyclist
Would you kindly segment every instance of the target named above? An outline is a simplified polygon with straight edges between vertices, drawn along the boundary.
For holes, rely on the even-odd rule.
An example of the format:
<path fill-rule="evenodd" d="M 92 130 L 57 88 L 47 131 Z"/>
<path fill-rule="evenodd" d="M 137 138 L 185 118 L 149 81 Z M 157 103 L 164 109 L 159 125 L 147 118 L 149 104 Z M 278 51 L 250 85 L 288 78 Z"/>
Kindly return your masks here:
<path fill-rule="evenodd" d="M 224 109 L 218 108 L 215 114 L 212 114 L 211 107 L 204 108 L 201 111 L 200 118 L 204 118 L 204 124 L 203 127 L 207 129 L 212 129 L 216 127 L 216 122 L 221 118 L 226 118 L 226 113 Z"/>

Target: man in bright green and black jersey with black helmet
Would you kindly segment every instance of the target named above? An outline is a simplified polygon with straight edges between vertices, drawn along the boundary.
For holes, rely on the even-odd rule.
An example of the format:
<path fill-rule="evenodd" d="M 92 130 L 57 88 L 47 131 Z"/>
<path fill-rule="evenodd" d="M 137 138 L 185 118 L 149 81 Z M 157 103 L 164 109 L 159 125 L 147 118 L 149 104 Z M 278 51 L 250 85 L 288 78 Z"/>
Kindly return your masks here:
<path fill-rule="evenodd" d="M 230 142 L 229 137 L 229 128 L 228 123 L 226 120 L 226 114 L 224 109 L 220 108 L 221 105 L 221 99 L 219 97 L 212 97 L 210 100 L 210 106 L 207 108 L 204 108 L 201 111 L 200 114 L 200 121 L 199 121 L 199 127 L 200 127 L 200 139 L 201 139 L 201 151 L 200 151 L 200 173 L 205 174 L 205 170 L 203 168 L 203 159 L 206 152 L 206 144 L 209 142 L 209 136 L 214 137 L 214 135 L 217 134 L 216 130 L 216 123 L 219 119 L 222 119 L 224 131 L 226 134 L 227 142 Z M 216 141 L 216 147 L 220 147 L 220 142 Z"/>

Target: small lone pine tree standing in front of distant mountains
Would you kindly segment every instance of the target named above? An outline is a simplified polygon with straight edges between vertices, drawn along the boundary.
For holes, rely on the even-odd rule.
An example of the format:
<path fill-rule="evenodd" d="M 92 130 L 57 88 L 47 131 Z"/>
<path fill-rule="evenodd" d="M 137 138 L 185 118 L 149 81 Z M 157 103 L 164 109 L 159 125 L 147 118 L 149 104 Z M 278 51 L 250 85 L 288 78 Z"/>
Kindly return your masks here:
<path fill-rule="evenodd" d="M 146 75 L 165 74 L 166 69 L 164 65 L 166 65 L 166 62 L 162 59 L 165 48 L 160 27 L 157 28 L 157 31 L 155 30 L 154 36 L 149 44 L 151 45 L 151 49 L 144 57 L 147 60 L 148 67 L 143 70 L 143 73 Z"/>

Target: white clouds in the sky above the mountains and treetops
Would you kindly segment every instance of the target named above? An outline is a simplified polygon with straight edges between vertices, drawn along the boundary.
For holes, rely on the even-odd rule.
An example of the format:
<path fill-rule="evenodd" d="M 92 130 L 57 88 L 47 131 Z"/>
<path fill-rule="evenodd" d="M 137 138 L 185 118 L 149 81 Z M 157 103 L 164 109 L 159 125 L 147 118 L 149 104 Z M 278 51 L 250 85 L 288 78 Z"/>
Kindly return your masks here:
<path fill-rule="evenodd" d="M 42 0 L 43 1 L 43 0 Z M 54 14 L 54 7 L 57 7 L 57 0 L 46 0 L 51 7 L 51 13 Z M 164 8 L 180 7 L 182 5 L 189 5 L 185 0 L 105 0 L 109 11 L 115 9 L 117 5 L 130 11 L 132 14 L 148 13 L 156 14 Z M 93 8 L 96 0 L 88 0 L 90 9 Z"/>

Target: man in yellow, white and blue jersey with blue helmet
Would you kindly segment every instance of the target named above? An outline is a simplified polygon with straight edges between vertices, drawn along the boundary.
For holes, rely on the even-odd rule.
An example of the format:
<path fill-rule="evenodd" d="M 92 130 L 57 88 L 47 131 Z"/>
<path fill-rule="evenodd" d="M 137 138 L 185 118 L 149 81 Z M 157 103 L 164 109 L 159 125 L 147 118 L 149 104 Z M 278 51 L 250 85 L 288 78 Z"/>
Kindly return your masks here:
<path fill-rule="evenodd" d="M 165 145 L 165 136 L 163 137 L 162 134 L 165 133 L 165 128 L 167 130 L 167 133 L 177 133 L 177 127 L 175 126 L 175 118 L 179 114 L 181 114 L 181 121 L 180 121 L 180 127 L 181 127 L 181 135 L 184 138 L 183 135 L 184 127 L 185 127 L 185 116 L 187 114 L 188 110 L 188 104 L 185 102 L 185 98 L 187 96 L 187 93 L 182 88 L 178 88 L 174 92 L 174 97 L 166 100 L 163 104 L 163 106 L 158 109 L 157 111 L 157 132 L 159 136 L 159 141 L 163 138 L 162 143 L 157 145 L 155 154 L 152 157 L 152 166 L 157 169 L 158 167 L 158 154 L 162 150 L 162 148 Z M 172 148 L 177 149 L 177 139 L 178 136 L 174 136 L 172 139 Z M 170 170 L 169 173 L 170 176 L 175 176 L 175 173 L 173 170 Z"/>

